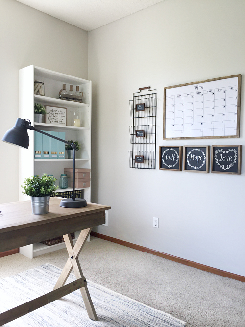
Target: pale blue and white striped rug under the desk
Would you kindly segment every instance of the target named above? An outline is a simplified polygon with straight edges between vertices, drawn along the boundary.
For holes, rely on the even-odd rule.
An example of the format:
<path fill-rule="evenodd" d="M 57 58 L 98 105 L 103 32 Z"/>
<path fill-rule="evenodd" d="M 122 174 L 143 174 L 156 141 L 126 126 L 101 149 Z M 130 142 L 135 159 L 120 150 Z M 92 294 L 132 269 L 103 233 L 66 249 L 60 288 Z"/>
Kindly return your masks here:
<path fill-rule="evenodd" d="M 0 279 L 0 312 L 50 292 L 61 269 L 45 264 Z M 70 275 L 67 282 L 75 280 Z M 162 311 L 88 281 L 98 321 L 88 318 L 79 290 L 18 318 L 5 327 L 184 327 Z"/>

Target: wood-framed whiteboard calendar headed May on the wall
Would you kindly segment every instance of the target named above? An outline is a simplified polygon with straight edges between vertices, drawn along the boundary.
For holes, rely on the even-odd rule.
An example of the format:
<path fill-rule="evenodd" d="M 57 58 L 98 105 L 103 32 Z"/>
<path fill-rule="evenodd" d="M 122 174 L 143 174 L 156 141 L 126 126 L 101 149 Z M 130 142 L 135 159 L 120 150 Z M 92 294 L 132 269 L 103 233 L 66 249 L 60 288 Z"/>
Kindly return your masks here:
<path fill-rule="evenodd" d="M 241 75 L 164 88 L 164 139 L 239 137 Z"/>

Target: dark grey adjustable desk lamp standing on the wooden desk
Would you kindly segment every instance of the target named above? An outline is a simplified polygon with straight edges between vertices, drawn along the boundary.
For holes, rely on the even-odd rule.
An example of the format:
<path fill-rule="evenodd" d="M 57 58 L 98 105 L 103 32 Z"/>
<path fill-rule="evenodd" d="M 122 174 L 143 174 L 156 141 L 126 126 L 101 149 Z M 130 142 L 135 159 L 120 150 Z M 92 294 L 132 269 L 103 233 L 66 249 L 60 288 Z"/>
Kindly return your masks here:
<path fill-rule="evenodd" d="M 28 149 L 29 147 L 29 135 L 27 130 L 35 130 L 38 133 L 47 135 L 52 137 L 55 140 L 70 144 L 73 148 L 73 194 L 72 198 L 62 199 L 60 201 L 60 206 L 65 208 L 81 208 L 87 206 L 87 201 L 85 199 L 79 199 L 75 197 L 75 153 L 76 153 L 76 145 L 71 142 L 67 142 L 62 140 L 56 136 L 50 135 L 45 133 L 41 130 L 36 129 L 35 127 L 31 126 L 31 122 L 28 119 L 21 119 L 17 118 L 15 126 L 4 134 L 2 141 L 7 142 L 10 144 L 17 145 L 19 147 Z"/>

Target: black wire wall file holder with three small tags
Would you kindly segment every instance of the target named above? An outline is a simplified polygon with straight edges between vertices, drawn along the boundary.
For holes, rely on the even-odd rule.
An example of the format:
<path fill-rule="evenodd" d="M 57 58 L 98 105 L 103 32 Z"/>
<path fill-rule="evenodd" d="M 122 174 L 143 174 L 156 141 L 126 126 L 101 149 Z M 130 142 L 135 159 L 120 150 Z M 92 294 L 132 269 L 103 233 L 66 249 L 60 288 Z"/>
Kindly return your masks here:
<path fill-rule="evenodd" d="M 143 90 L 147 90 L 142 92 Z M 150 86 L 139 88 L 129 101 L 133 125 L 129 126 L 129 167 L 138 169 L 156 168 L 156 90 Z M 143 94 L 144 93 L 144 94 Z"/>

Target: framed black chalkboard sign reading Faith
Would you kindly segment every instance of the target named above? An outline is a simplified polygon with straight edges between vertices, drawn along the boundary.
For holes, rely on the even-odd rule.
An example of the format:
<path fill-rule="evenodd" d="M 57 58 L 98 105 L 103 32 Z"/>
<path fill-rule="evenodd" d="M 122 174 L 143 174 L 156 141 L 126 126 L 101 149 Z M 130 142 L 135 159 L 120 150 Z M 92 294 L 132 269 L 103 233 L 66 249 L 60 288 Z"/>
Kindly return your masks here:
<path fill-rule="evenodd" d="M 160 146 L 159 169 L 182 170 L 182 146 Z"/>

